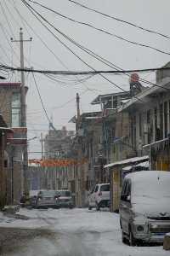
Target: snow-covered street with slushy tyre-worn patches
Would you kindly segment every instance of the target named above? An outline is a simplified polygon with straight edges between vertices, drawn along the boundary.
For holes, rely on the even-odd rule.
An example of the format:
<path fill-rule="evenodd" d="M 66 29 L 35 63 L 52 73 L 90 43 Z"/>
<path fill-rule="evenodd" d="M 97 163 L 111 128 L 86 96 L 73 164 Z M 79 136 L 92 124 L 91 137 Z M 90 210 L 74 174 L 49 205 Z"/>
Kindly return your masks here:
<path fill-rule="evenodd" d="M 0 223 L 1 232 L 5 227 L 21 234 L 17 244 L 11 240 L 8 252 L 3 248 L 3 256 L 169 255 L 162 247 L 128 247 L 122 244 L 119 215 L 116 213 L 75 208 L 21 209 L 20 214 L 29 219 L 5 219 Z M 22 236 L 22 232 L 25 235 Z"/>

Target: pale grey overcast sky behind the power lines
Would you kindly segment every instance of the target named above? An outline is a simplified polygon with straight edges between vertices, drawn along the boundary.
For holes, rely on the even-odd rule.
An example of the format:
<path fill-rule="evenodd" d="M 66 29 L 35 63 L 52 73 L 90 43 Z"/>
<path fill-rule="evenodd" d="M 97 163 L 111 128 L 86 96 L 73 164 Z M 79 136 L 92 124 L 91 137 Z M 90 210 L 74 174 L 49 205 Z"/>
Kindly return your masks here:
<path fill-rule="evenodd" d="M 98 9 L 107 15 L 116 16 L 119 19 L 127 20 L 143 26 L 145 28 L 161 32 L 170 36 L 170 2 L 168 0 L 86 0 L 77 2 L 83 3 L 90 8 Z M 51 9 L 58 11 L 63 15 L 67 15 L 72 19 L 88 22 L 96 27 L 103 28 L 111 33 L 117 34 L 132 41 L 142 44 L 150 44 L 158 49 L 165 50 L 170 53 L 170 39 L 161 38 L 150 32 L 144 32 L 132 26 L 116 20 L 111 20 L 99 14 L 69 2 L 68 0 L 37 0 Z M 81 61 L 77 60 L 68 49 L 65 49 L 59 41 L 54 38 L 36 18 L 31 15 L 26 6 L 20 0 L 0 0 L 0 57 L 1 62 L 10 66 L 20 67 L 20 49 L 18 43 L 10 43 L 9 38 L 19 38 L 20 26 L 24 30 L 24 39 L 33 38 L 31 43 L 25 43 L 25 67 L 34 67 L 35 69 L 51 69 L 51 70 L 89 70 Z M 30 3 L 30 2 L 29 2 Z M 113 38 L 103 32 L 94 31 L 87 26 L 77 25 L 69 20 L 65 20 L 54 15 L 48 10 L 38 7 L 36 4 L 31 6 L 49 20 L 56 28 L 59 28 L 66 35 L 74 38 L 77 43 L 82 44 L 88 49 L 93 50 L 98 55 L 105 57 L 108 61 L 116 64 L 123 69 L 150 68 L 161 67 L 169 61 L 169 55 L 164 55 L 152 49 L 142 48 L 137 45 L 129 44 L 118 38 Z M 15 7 L 15 9 L 14 9 Z M 26 20 L 21 20 L 20 15 Z M 29 24 L 26 24 L 26 22 Z M 30 28 L 32 27 L 32 29 Z M 34 33 L 42 38 L 48 48 L 51 49 L 55 57 L 41 42 Z M 56 32 L 56 35 L 59 36 Z M 105 67 L 99 61 L 94 60 L 82 50 L 77 49 L 70 42 L 59 36 L 65 44 L 67 44 L 77 55 L 81 56 L 92 67 L 97 70 L 111 69 Z M 12 50 L 13 48 L 13 50 Z M 16 54 L 14 54 L 14 52 Z M 18 55 L 18 57 L 16 56 Z M 60 61 L 59 61 L 60 60 Z M 63 64 L 60 62 L 62 61 Z M 153 81 L 154 75 L 151 73 L 143 73 L 142 78 Z M 101 77 L 88 79 L 86 83 L 75 84 L 76 78 L 56 77 L 58 81 L 52 81 L 47 77 L 36 74 L 37 85 L 42 95 L 42 100 L 47 108 L 49 117 L 53 117 L 54 126 L 60 129 L 62 125 L 66 125 L 67 129 L 74 130 L 74 125 L 68 124 L 68 120 L 76 113 L 76 93 L 80 93 L 81 112 L 95 110 L 95 106 L 90 106 L 90 102 L 99 94 L 116 92 L 117 88 L 108 83 Z M 127 76 L 107 76 L 113 82 L 118 84 L 123 90 L 128 90 Z M 71 82 L 71 79 L 74 82 Z M 80 79 L 80 78 L 79 78 Z M 82 79 L 82 78 L 81 78 Z M 20 81 L 20 73 L 10 74 L 8 81 Z M 63 84 L 66 82 L 66 84 Z M 48 120 L 42 110 L 42 105 L 37 95 L 37 90 L 33 82 L 31 74 L 26 75 L 26 85 L 29 90 L 27 94 L 27 126 L 28 138 L 40 137 L 41 131 L 43 136 L 48 131 Z M 144 85 L 144 84 L 143 84 Z M 39 138 L 31 141 L 29 150 L 40 151 Z M 40 157 L 39 154 L 31 154 L 31 157 Z"/>

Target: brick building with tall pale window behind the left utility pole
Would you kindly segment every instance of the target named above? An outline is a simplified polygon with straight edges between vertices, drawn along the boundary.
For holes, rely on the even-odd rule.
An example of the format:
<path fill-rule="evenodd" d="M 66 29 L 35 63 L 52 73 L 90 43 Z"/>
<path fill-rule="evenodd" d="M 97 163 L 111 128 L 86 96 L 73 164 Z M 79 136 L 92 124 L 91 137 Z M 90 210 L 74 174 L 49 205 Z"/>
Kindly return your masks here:
<path fill-rule="evenodd" d="M 23 193 L 23 148 L 27 147 L 26 127 L 20 124 L 20 83 L 0 83 L 0 113 L 8 127 L 14 131 L 8 138 L 8 168 L 12 177 L 12 198 L 14 203 L 20 201 Z"/>

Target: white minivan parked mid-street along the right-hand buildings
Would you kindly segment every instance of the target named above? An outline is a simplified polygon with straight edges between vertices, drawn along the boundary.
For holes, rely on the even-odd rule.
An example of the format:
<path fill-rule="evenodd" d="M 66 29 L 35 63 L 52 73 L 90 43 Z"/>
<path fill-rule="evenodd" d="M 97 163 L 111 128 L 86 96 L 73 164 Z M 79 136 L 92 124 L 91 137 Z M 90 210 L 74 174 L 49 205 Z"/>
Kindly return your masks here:
<path fill-rule="evenodd" d="M 94 189 L 88 195 L 88 210 L 96 207 L 99 211 L 100 207 L 110 206 L 110 184 L 96 184 Z"/>

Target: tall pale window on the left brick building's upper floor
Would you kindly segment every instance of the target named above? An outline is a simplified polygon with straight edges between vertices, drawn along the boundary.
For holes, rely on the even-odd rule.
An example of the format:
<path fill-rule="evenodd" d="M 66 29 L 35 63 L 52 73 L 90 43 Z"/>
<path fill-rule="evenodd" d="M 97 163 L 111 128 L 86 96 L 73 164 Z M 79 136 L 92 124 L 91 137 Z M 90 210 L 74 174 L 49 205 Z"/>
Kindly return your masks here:
<path fill-rule="evenodd" d="M 20 127 L 20 93 L 12 96 L 12 127 Z"/>

